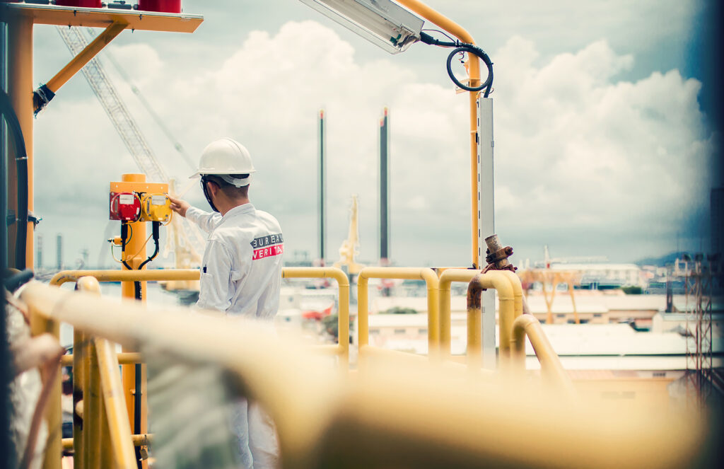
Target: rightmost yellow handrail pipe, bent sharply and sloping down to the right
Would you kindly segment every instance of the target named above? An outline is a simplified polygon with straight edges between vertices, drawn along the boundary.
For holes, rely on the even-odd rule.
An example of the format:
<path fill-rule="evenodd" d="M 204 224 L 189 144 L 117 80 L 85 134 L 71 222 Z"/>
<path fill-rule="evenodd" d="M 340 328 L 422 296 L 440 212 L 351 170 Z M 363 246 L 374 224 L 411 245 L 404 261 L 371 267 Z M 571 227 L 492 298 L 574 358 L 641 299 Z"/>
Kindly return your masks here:
<path fill-rule="evenodd" d="M 571 378 L 561 365 L 560 358 L 543 332 L 541 323 L 533 315 L 522 315 L 513 321 L 510 344 L 511 365 L 519 371 L 526 369 L 526 336 L 536 352 L 544 378 L 560 391 L 575 396 L 576 391 L 573 389 Z"/>

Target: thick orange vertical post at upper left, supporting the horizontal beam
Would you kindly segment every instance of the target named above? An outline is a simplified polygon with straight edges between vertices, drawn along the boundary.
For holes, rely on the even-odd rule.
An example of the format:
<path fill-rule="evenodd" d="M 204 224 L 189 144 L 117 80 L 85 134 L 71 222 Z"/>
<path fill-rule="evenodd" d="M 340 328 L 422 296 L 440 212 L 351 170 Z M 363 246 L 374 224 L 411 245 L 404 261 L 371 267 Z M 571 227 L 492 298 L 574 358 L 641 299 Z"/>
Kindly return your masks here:
<path fill-rule="evenodd" d="M 33 18 L 24 15 L 8 22 L 8 91 L 12 107 L 20 122 L 28 153 L 28 210 L 33 209 Z M 12 149 L 12 146 L 10 146 Z M 17 172 L 14 151 L 9 153 L 7 173 L 7 207 L 17 214 Z M 25 265 L 33 267 L 33 223 L 28 223 Z M 17 224 L 8 227 L 8 263 L 15 265 Z"/>

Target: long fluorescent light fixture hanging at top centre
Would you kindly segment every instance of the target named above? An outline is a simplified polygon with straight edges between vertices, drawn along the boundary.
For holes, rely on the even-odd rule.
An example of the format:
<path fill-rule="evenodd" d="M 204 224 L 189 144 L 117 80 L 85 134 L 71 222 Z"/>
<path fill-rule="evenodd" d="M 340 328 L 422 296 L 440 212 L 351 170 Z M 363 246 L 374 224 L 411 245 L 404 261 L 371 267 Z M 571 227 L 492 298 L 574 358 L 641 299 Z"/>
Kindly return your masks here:
<path fill-rule="evenodd" d="M 420 40 L 424 20 L 392 0 L 300 0 L 382 49 L 397 54 Z"/>

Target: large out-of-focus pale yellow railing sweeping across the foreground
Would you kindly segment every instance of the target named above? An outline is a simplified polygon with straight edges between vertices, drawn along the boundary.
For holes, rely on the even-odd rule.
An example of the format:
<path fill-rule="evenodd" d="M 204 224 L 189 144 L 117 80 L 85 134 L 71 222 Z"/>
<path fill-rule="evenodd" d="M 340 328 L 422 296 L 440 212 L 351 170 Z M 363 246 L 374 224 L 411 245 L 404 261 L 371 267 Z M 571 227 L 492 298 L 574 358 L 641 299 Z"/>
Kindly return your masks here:
<path fill-rule="evenodd" d="M 282 468 L 702 467 L 716 444 L 693 415 L 598 409 L 513 376 L 481 378 L 390 357 L 342 379 L 303 346 L 255 323 L 235 327 L 228 317 L 119 303 L 38 282 L 21 297 L 35 315 L 93 337 L 96 349 L 100 338 L 153 346 L 177 360 L 229 370 L 245 396 L 274 418 Z M 106 362 L 114 367 L 112 358 Z M 130 435 L 125 441 L 118 452 L 127 454 Z"/>

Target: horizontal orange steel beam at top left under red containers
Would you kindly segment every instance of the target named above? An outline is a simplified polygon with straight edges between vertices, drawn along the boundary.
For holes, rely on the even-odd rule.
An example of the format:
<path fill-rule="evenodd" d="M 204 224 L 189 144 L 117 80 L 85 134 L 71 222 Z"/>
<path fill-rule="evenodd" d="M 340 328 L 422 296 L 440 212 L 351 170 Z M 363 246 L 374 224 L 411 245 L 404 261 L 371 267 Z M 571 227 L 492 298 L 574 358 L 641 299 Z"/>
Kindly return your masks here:
<path fill-rule="evenodd" d="M 198 14 L 124 11 L 108 8 L 58 7 L 38 4 L 0 4 L 0 14 L 16 14 L 39 25 L 106 28 L 126 22 L 131 30 L 193 33 L 203 22 Z"/>

